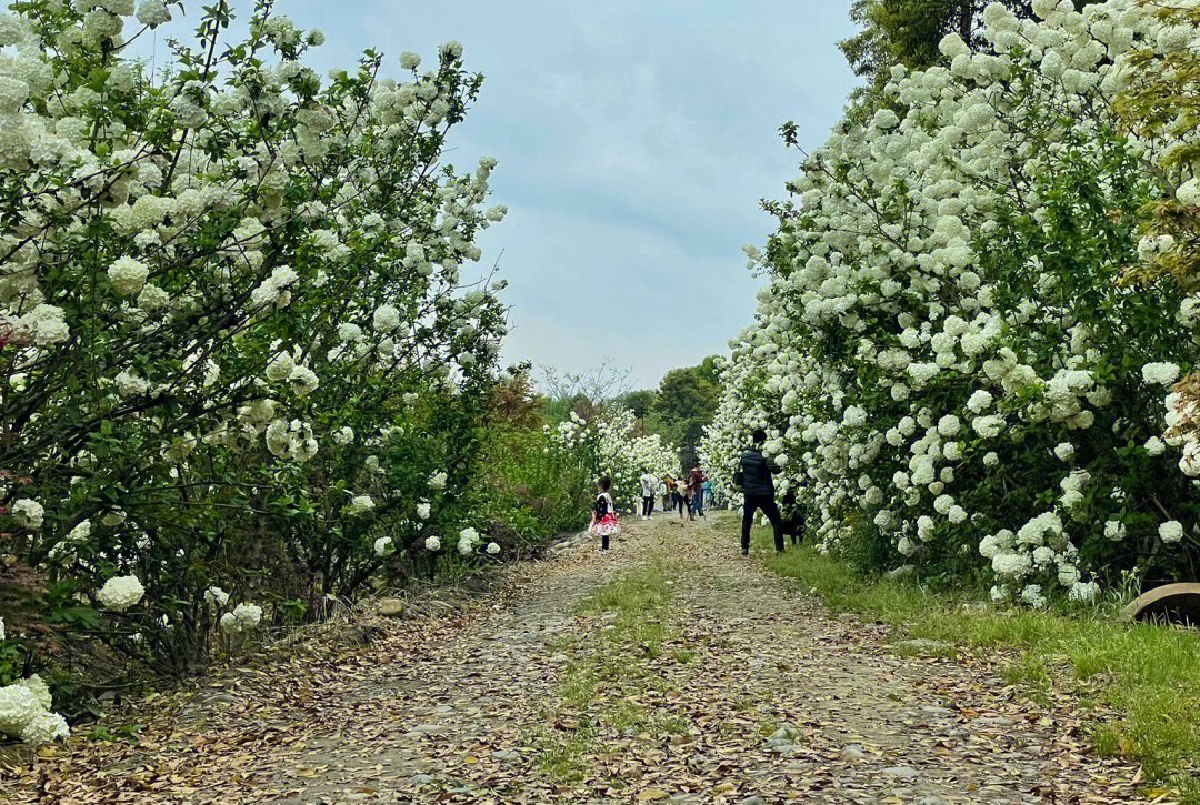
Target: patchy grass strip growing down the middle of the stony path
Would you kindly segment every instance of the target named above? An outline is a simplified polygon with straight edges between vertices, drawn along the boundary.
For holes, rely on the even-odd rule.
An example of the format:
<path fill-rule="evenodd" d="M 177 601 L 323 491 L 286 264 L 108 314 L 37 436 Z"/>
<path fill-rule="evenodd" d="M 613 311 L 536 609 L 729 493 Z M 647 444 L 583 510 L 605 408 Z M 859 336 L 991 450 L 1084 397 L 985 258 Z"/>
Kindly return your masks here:
<path fill-rule="evenodd" d="M 637 703 L 641 693 L 668 686 L 653 665 L 671 649 L 671 587 L 661 563 L 620 573 L 581 602 L 578 614 L 594 620 L 593 629 L 551 647 L 568 660 L 545 713 L 554 727 L 533 737 L 547 776 L 562 782 L 586 776 L 589 757 L 605 751 L 606 734 L 688 732 L 685 719 Z M 679 649 L 667 656 L 678 663 L 691 660 Z M 610 783 L 623 787 L 619 780 Z"/>

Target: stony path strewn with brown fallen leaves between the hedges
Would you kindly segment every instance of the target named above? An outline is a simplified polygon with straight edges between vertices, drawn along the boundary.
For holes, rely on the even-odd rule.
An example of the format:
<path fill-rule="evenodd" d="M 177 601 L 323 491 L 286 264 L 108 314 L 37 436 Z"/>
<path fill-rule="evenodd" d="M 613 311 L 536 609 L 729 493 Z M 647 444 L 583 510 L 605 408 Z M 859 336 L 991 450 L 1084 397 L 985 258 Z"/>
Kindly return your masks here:
<path fill-rule="evenodd" d="M 511 569 L 466 617 L 246 675 L 223 708 L 180 711 L 142 746 L 42 758 L 10 797 L 1135 800 L 1130 769 L 1090 756 L 1073 714 L 1031 705 L 988 667 L 902 656 L 882 627 L 829 618 L 740 558 L 732 529 L 721 515 L 632 518 L 608 553 L 583 545 Z"/>

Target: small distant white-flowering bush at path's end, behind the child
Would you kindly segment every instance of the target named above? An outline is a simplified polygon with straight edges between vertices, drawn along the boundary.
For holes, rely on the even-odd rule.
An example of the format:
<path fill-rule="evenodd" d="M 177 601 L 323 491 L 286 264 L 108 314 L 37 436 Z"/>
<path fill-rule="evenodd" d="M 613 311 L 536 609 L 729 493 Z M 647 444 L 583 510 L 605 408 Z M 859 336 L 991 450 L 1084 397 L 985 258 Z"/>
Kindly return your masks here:
<path fill-rule="evenodd" d="M 560 449 L 586 463 L 593 480 L 608 476 L 613 503 L 622 511 L 634 511 L 641 499 L 642 473 L 679 476 L 678 449 L 656 433 L 637 435 L 637 417 L 620 405 L 606 407 L 590 422 L 572 411 L 553 428 L 553 437 Z"/>

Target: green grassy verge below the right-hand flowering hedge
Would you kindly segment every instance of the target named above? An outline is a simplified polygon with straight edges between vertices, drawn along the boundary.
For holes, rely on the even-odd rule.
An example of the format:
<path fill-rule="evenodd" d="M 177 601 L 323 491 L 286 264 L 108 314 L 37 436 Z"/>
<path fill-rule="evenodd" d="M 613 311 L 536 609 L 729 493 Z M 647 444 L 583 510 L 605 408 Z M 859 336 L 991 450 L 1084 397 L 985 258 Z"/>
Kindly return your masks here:
<path fill-rule="evenodd" d="M 1138 761 L 1151 786 L 1175 789 L 1180 801 L 1200 805 L 1200 633 L 1124 625 L 1111 606 L 1000 608 L 913 582 L 863 578 L 806 548 L 776 557 L 764 531 L 756 533 L 755 542 L 768 569 L 796 578 L 834 611 L 876 618 L 952 650 L 1002 649 L 1002 675 L 1026 685 L 1034 698 L 1057 681 L 1081 707 L 1106 705 L 1116 716 L 1093 722 L 1096 751 Z"/>

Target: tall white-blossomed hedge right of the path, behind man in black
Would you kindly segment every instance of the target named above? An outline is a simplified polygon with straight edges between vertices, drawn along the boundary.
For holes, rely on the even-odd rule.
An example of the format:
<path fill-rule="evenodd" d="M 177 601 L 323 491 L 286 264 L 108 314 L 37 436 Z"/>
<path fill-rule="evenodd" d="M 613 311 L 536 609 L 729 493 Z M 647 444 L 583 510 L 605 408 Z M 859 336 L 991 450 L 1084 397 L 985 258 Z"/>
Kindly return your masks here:
<path fill-rule="evenodd" d="M 1132 53 L 1200 36 L 1134 0 L 1033 7 L 992 4 L 985 48 L 950 34 L 943 66 L 895 67 L 769 205 L 778 232 L 746 247 L 769 287 L 702 452 L 727 487 L 766 427 L 824 549 L 1040 606 L 1190 572 L 1200 464 L 1162 437 L 1200 308 L 1120 283 L 1169 246 L 1139 238 L 1139 208 L 1190 173 L 1158 170 L 1175 146 L 1114 101 Z"/>

